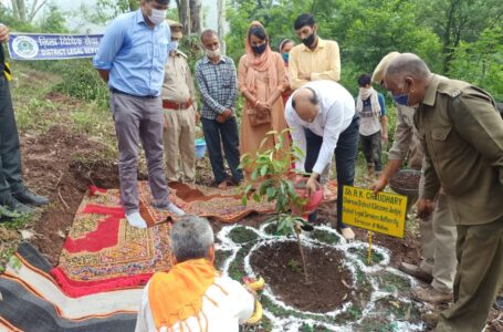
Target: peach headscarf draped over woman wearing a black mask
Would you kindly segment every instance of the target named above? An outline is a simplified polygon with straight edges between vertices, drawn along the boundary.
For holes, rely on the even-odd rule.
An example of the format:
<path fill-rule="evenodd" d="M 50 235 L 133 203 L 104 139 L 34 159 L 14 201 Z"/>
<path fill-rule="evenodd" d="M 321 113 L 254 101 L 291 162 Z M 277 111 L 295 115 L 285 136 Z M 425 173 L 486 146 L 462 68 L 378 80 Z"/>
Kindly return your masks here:
<path fill-rule="evenodd" d="M 255 92 L 255 72 L 269 73 L 269 87 L 271 91 L 277 86 L 277 70 L 275 66 L 275 60 L 271 46 L 269 45 L 269 35 L 265 33 L 265 51 L 259 56 L 255 56 L 253 49 L 250 44 L 250 29 L 254 25 L 264 28 L 259 21 L 253 21 L 248 28 L 247 38 L 244 40 L 244 50 L 248 58 L 248 71 L 247 71 L 247 89 L 251 92 Z M 265 30 L 265 29 L 264 29 Z"/>

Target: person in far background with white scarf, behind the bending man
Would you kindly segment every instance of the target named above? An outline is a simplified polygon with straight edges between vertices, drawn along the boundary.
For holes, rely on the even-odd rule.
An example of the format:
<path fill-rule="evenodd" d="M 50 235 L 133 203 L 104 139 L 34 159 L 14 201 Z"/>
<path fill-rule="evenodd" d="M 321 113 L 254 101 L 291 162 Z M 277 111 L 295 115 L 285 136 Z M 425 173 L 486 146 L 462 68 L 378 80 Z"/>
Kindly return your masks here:
<path fill-rule="evenodd" d="M 388 116 L 385 97 L 370 85 L 370 75 L 358 77 L 359 92 L 356 96 L 356 112 L 359 114 L 359 141 L 367 160 L 368 177 L 383 170 L 383 143 L 388 142 Z"/>

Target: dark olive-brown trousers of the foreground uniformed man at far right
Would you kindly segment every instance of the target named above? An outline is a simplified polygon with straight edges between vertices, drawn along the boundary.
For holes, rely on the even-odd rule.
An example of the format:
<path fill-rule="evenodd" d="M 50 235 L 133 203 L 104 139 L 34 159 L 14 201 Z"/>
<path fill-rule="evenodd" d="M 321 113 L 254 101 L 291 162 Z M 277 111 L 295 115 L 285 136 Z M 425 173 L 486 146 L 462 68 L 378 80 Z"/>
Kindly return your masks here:
<path fill-rule="evenodd" d="M 503 283 L 503 217 L 485 225 L 459 225 L 454 304 L 436 331 L 479 332 Z"/>

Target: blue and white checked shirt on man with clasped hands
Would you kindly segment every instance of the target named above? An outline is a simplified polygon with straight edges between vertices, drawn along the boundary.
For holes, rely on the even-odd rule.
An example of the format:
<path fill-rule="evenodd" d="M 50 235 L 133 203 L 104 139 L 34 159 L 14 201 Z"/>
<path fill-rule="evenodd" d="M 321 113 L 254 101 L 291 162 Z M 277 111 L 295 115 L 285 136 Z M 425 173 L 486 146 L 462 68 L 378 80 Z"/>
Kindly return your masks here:
<path fill-rule="evenodd" d="M 202 117 L 213 120 L 226 110 L 234 113 L 238 80 L 232 59 L 221 56 L 214 64 L 205 55 L 196 63 L 195 72 L 202 98 Z"/>

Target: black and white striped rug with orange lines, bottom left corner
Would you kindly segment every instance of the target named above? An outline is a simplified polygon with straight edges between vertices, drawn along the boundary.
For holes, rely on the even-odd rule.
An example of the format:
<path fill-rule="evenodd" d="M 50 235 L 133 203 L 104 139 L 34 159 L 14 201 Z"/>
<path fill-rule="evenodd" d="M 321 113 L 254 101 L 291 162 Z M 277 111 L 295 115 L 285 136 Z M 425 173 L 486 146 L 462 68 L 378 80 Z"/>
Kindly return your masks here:
<path fill-rule="evenodd" d="M 22 243 L 0 274 L 0 331 L 134 331 L 142 288 L 67 297 L 50 263 Z"/>

